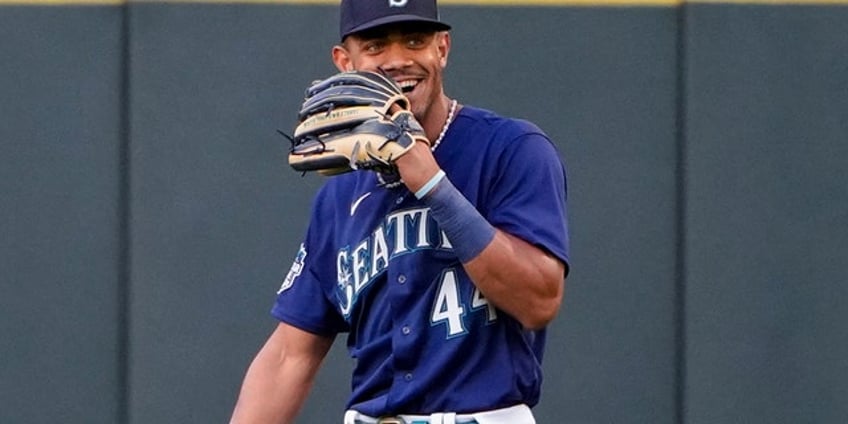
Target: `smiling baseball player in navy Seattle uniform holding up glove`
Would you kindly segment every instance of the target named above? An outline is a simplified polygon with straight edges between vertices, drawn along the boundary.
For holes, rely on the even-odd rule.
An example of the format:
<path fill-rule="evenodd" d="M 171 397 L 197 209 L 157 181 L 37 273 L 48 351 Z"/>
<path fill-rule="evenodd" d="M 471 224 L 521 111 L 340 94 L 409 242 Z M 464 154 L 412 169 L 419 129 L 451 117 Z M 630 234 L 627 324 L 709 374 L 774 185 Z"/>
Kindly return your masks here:
<path fill-rule="evenodd" d="M 343 0 L 340 15 L 340 74 L 307 90 L 290 156 L 332 176 L 231 423 L 293 422 L 339 333 L 356 360 L 345 424 L 535 423 L 568 273 L 558 152 L 447 96 L 435 0 Z"/>

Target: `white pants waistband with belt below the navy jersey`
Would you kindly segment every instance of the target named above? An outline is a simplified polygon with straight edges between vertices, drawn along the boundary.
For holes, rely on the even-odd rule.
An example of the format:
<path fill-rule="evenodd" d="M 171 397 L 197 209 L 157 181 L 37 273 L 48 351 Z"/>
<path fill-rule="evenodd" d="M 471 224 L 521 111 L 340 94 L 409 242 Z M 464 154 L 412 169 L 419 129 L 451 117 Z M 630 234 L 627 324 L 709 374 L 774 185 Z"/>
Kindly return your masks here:
<path fill-rule="evenodd" d="M 536 424 L 527 405 L 490 411 L 457 414 L 437 412 L 430 415 L 400 414 L 390 417 L 370 417 L 358 411 L 345 412 L 344 424 Z"/>

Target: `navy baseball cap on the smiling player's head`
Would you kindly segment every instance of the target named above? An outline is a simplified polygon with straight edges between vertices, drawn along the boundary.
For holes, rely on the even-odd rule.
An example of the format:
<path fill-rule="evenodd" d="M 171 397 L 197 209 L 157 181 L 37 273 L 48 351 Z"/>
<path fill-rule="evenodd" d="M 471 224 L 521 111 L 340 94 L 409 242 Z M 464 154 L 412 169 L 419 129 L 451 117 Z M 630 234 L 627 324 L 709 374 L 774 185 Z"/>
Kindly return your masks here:
<path fill-rule="evenodd" d="M 436 0 L 342 0 L 339 35 L 350 34 L 397 22 L 430 24 L 437 31 L 450 25 L 439 20 Z"/>

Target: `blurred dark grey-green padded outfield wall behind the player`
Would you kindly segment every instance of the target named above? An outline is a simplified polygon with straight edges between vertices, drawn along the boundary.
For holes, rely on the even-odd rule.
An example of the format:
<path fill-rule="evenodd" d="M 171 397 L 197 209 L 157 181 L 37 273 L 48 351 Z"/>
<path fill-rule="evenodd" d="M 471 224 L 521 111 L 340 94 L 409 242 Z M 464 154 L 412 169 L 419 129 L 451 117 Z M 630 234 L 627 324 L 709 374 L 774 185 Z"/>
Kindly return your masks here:
<path fill-rule="evenodd" d="M 507 3 L 443 2 L 446 85 L 568 165 L 539 422 L 848 422 L 846 2 Z M 0 423 L 227 422 L 337 13 L 0 0 Z M 340 337 L 298 422 L 341 422 L 350 369 Z"/>

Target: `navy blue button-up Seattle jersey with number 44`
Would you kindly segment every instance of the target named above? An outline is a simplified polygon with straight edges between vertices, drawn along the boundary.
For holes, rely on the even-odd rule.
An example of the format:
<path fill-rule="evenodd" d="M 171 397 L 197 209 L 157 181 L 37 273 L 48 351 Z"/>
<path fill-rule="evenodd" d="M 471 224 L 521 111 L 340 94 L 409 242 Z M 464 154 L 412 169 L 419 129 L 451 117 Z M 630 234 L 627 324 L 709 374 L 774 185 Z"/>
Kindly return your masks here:
<path fill-rule="evenodd" d="M 539 128 L 466 106 L 434 155 L 492 225 L 568 262 L 565 169 Z M 321 188 L 272 314 L 316 334 L 349 333 L 347 407 L 367 415 L 539 399 L 545 330 L 526 331 L 489 304 L 429 209 L 373 172 Z"/>

